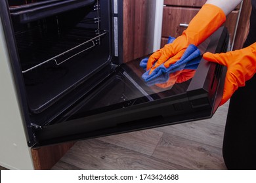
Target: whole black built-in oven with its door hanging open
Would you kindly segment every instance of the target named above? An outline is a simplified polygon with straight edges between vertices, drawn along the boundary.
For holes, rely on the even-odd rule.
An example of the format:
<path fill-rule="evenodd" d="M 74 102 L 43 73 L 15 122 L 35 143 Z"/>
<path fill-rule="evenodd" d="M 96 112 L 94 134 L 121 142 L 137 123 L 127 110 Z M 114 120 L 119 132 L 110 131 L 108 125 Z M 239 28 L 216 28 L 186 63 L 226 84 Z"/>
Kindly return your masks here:
<path fill-rule="evenodd" d="M 182 82 L 184 68 L 158 84 L 142 80 L 142 58 L 123 63 L 122 1 L 0 5 L 30 147 L 211 118 L 219 106 L 221 65 L 200 58 Z M 228 39 L 221 27 L 200 51 L 225 52 Z"/>

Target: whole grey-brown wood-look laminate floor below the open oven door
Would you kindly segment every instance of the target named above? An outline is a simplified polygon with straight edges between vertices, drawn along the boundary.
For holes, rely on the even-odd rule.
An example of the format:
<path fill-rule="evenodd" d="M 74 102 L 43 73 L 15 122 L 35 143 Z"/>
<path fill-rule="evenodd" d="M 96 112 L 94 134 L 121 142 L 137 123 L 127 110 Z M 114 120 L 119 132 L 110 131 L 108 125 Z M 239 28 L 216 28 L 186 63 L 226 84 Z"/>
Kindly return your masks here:
<path fill-rule="evenodd" d="M 53 169 L 226 169 L 228 103 L 213 118 L 76 142 Z"/>

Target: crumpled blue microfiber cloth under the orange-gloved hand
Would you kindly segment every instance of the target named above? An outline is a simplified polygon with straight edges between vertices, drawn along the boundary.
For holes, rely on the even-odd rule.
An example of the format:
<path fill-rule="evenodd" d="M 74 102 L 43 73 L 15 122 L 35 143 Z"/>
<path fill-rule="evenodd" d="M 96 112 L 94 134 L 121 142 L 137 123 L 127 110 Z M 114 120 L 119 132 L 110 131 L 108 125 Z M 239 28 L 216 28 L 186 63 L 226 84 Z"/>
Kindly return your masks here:
<path fill-rule="evenodd" d="M 168 43 L 171 43 L 174 40 L 175 40 L 175 38 L 169 37 Z M 148 82 L 150 80 L 153 80 L 153 79 L 161 76 L 161 78 L 158 78 L 157 80 L 163 82 L 163 80 L 169 79 L 170 73 L 174 73 L 176 71 L 181 71 L 182 69 L 196 69 L 198 67 L 198 64 L 200 63 L 201 58 L 202 57 L 200 56 L 200 50 L 196 46 L 194 46 L 194 44 L 190 44 L 188 46 L 188 48 L 186 48 L 184 54 L 182 55 L 182 57 L 179 61 L 170 65 L 170 67 L 168 67 L 168 68 L 165 68 L 165 66 L 162 63 L 159 67 L 157 67 L 151 73 L 151 75 L 149 75 L 150 70 L 146 71 L 142 75 L 142 78 L 144 79 L 145 82 Z M 146 70 L 147 62 L 148 62 L 148 58 L 142 59 L 142 61 L 140 61 L 140 67 L 142 67 L 144 70 Z M 166 73 L 168 75 L 166 75 L 164 73 Z"/>

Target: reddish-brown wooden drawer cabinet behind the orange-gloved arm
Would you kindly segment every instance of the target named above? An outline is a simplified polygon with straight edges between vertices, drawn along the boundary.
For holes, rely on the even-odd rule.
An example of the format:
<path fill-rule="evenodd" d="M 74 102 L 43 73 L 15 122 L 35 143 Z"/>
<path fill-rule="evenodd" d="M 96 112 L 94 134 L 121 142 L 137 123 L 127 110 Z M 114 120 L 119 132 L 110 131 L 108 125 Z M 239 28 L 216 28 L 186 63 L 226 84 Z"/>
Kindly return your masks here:
<path fill-rule="evenodd" d="M 178 37 L 186 29 L 186 25 L 198 13 L 206 0 L 165 0 L 163 7 L 163 26 L 161 47 L 166 44 L 169 36 Z M 230 33 L 230 43 L 234 42 L 236 33 L 236 25 L 238 24 L 238 17 L 240 6 L 236 7 L 226 17 L 224 25 L 228 27 Z"/>

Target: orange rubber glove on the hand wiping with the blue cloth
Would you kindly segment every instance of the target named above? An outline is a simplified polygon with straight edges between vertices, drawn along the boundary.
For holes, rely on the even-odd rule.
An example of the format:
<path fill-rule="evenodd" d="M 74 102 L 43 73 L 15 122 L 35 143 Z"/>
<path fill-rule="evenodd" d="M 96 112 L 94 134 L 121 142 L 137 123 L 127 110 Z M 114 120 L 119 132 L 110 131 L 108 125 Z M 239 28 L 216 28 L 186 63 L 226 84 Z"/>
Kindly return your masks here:
<path fill-rule="evenodd" d="M 211 4 L 203 5 L 181 36 L 177 37 L 173 43 L 166 44 L 150 56 L 146 70 L 151 69 L 151 74 L 162 63 L 168 68 L 171 64 L 181 59 L 182 54 L 189 44 L 198 46 L 225 21 L 226 16 L 221 8 Z"/>

